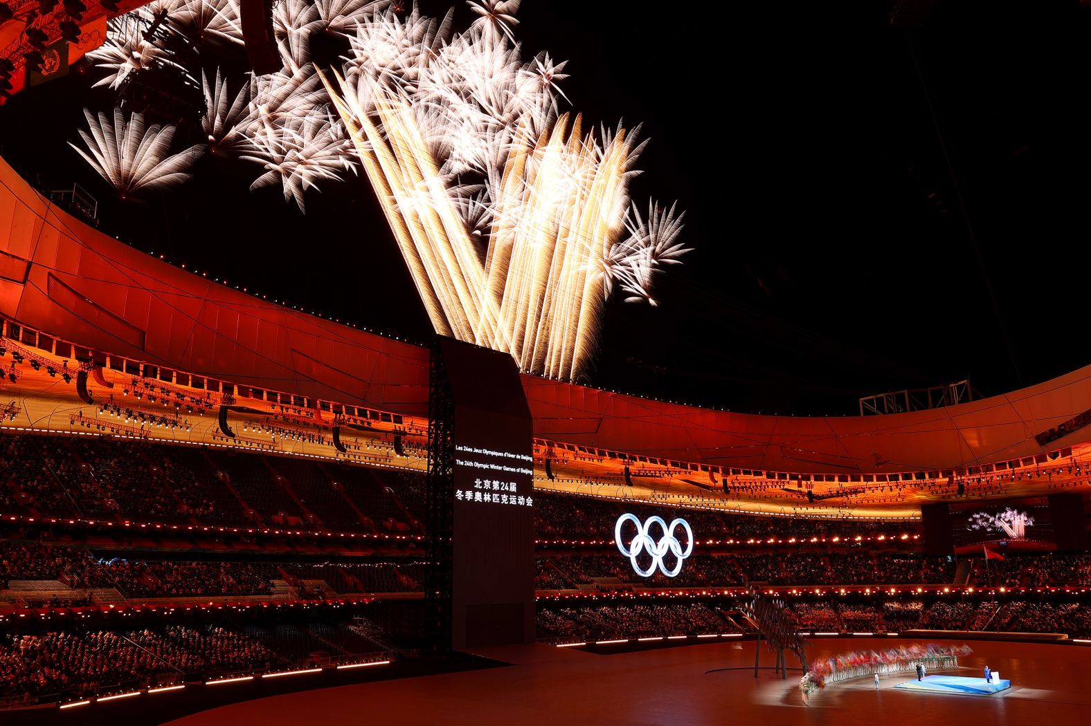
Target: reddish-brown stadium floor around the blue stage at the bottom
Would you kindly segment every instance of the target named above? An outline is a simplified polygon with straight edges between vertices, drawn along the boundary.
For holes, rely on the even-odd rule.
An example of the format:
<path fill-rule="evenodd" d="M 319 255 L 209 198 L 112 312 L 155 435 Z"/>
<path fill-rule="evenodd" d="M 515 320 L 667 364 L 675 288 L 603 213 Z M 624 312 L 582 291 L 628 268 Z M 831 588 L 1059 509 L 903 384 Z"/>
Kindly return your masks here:
<path fill-rule="evenodd" d="M 933 639 L 934 640 L 934 639 Z M 904 644 L 898 639 L 813 641 L 812 656 Z M 915 642 L 915 641 L 913 641 Z M 932 641 L 928 641 L 932 642 Z M 490 648 L 513 664 L 401 680 L 303 691 L 236 703 L 169 722 L 221 724 L 867 724 L 914 726 L 1082 723 L 1091 707 L 1091 649 L 972 642 L 958 675 L 980 677 L 987 663 L 1011 680 L 988 697 L 896 690 L 904 675 L 837 683 L 805 705 L 799 671 L 753 677 L 754 643 L 690 645 L 603 655 L 549 645 Z M 763 664 L 772 665 L 763 651 Z M 748 667 L 747 667 L 748 666 Z M 954 675 L 954 674 L 952 674 Z"/>

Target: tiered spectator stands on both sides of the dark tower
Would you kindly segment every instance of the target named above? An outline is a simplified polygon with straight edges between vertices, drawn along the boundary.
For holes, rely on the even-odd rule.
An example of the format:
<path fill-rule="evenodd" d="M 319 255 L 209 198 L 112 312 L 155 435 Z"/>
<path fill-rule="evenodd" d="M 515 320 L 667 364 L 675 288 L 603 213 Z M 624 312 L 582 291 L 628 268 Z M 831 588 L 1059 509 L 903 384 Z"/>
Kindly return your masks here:
<path fill-rule="evenodd" d="M 424 479 L 409 471 L 4 433 L 0 513 L 11 516 L 0 520 L 0 699 L 56 700 L 388 650 L 397 638 L 340 612 L 268 618 L 240 608 L 375 598 L 394 608 L 387 622 L 419 636 L 411 613 L 421 604 L 423 543 L 410 535 L 424 534 Z M 695 549 L 676 577 L 640 577 L 618 552 L 614 524 L 627 511 L 691 523 Z M 1012 554 L 987 568 L 979 557 L 956 585 L 956 562 L 925 556 L 910 522 L 740 516 L 556 493 L 536 496 L 535 519 L 541 638 L 752 632 L 747 584 L 787 592 L 788 622 L 805 632 L 1091 634 L 1087 608 L 1054 592 L 1091 584 L 1089 555 Z M 968 590 L 985 584 L 1012 592 Z M 232 605 L 207 607 L 213 601 Z M 178 613 L 201 604 L 193 613 L 206 615 L 34 628 L 2 617 L 12 608 L 93 617 L 111 602 L 184 603 Z"/>

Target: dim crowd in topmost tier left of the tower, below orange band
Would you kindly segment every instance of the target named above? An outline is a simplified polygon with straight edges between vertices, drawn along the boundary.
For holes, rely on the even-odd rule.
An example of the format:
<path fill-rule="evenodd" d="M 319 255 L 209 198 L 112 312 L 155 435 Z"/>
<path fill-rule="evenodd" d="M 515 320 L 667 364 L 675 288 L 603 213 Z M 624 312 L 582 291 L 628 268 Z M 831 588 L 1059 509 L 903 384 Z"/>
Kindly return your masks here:
<path fill-rule="evenodd" d="M 360 531 L 358 510 L 377 531 L 419 529 L 413 512 L 398 505 L 398 493 L 407 480 L 419 484 L 420 474 L 292 460 L 286 476 L 276 463 L 256 452 L 5 435 L 0 437 L 0 511 L 248 527 L 305 521 L 328 531 Z M 293 476 L 300 492 L 291 491 Z M 304 499 L 331 521 L 313 510 L 304 515 L 298 504 Z M 419 503 L 408 489 L 406 500 Z"/>

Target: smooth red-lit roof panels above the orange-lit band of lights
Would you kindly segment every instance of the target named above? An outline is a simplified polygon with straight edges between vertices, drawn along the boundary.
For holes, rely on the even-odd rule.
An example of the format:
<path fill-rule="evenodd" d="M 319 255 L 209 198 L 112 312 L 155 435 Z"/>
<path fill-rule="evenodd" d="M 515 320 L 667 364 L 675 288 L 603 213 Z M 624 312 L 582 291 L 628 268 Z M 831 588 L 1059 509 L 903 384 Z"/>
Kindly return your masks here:
<path fill-rule="evenodd" d="M 425 348 L 179 269 L 51 205 L 3 161 L 0 179 L 5 318 L 194 375 L 427 413 Z M 956 407 L 844 418 L 740 414 L 532 376 L 523 382 L 536 436 L 721 470 L 858 475 L 981 467 L 1084 441 L 1084 428 L 1063 426 L 1091 410 L 1091 366 Z"/>

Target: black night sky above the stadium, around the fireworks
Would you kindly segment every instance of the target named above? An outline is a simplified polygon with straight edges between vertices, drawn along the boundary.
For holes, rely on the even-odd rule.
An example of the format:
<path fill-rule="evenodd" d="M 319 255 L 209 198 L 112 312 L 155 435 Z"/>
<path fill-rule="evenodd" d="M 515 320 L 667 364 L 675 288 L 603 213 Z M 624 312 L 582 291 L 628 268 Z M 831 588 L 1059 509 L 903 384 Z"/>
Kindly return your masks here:
<path fill-rule="evenodd" d="M 968 377 L 988 396 L 1091 363 L 1091 9 L 937 0 L 907 31 L 891 4 L 525 0 L 525 56 L 570 60 L 563 87 L 587 121 L 644 122 L 634 196 L 676 198 L 694 247 L 658 307 L 611 302 L 594 385 L 852 413 L 868 394 Z M 16 168 L 77 180 L 101 228 L 139 249 L 428 339 L 365 180 L 309 193 L 303 216 L 278 190 L 247 191 L 256 167 L 206 157 L 187 185 L 115 203 L 64 145 L 81 106 L 112 106 L 87 85 L 0 109 Z"/>

